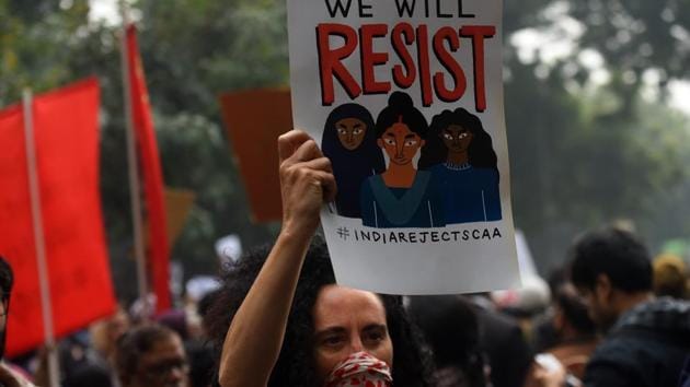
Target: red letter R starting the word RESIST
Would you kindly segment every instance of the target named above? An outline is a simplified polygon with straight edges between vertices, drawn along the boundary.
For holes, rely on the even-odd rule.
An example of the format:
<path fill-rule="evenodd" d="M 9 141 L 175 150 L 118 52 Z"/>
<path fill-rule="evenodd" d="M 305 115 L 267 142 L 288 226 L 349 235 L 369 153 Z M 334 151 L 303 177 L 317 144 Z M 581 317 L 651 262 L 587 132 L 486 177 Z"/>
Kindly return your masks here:
<path fill-rule="evenodd" d="M 342 37 L 345 44 L 340 48 L 331 49 L 331 36 Z M 322 23 L 317 26 L 317 43 L 323 105 L 330 106 L 335 98 L 333 78 L 341 82 L 350 98 L 354 99 L 361 94 L 361 87 L 342 62 L 357 48 L 357 31 L 345 24 Z"/>

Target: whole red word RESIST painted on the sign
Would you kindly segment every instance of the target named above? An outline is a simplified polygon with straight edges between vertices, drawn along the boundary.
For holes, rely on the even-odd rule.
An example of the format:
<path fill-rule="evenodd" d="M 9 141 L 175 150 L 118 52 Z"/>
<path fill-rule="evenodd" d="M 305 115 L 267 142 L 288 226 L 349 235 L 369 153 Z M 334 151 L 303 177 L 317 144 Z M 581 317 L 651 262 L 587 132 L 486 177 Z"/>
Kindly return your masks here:
<path fill-rule="evenodd" d="M 462 39 L 469 38 L 472 44 L 475 109 L 476 112 L 486 109 L 484 45 L 486 38 L 495 36 L 495 26 L 469 25 L 459 30 L 444 26 L 429 36 L 428 26 L 425 24 L 415 28 L 410 23 L 398 23 L 390 32 L 390 46 L 400 62 L 390 64 L 392 79 L 382 80 L 380 67 L 389 63 L 390 55 L 388 50 L 376 51 L 373 46 L 377 38 L 384 38 L 388 34 L 389 27 L 382 23 L 364 24 L 359 31 L 335 23 L 323 23 L 317 26 L 321 97 L 324 106 L 332 105 L 335 99 L 333 79 L 341 83 L 350 99 L 363 93 L 390 93 L 393 83 L 399 89 L 410 89 L 417 82 L 422 94 L 422 105 L 425 107 L 432 106 L 434 96 L 446 103 L 459 101 L 467 92 L 468 77 L 467 68 L 463 68 L 456 56 L 463 45 Z M 342 38 L 343 43 L 333 44 L 335 47 L 331 47 L 332 40 L 336 38 Z M 416 46 L 416 58 L 411 54 L 412 45 Z M 359 48 L 361 66 L 360 79 L 355 79 L 345 66 L 345 59 L 349 58 L 357 48 Z M 429 52 L 429 49 L 433 49 L 433 52 Z M 435 63 L 442 67 L 434 73 L 432 73 L 432 56 L 436 60 Z M 377 69 L 379 69 L 378 73 Z"/>

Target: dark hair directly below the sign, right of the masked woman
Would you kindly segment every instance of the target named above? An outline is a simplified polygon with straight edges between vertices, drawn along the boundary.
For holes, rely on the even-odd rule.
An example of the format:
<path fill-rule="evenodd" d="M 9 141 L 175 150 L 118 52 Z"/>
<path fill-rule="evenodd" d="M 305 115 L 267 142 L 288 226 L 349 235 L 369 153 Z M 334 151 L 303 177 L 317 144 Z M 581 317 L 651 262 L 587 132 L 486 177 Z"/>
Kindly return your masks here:
<path fill-rule="evenodd" d="M 410 314 L 424 332 L 437 368 L 453 367 L 469 386 L 485 386 L 480 327 L 473 306 L 456 295 L 414 296 Z"/>

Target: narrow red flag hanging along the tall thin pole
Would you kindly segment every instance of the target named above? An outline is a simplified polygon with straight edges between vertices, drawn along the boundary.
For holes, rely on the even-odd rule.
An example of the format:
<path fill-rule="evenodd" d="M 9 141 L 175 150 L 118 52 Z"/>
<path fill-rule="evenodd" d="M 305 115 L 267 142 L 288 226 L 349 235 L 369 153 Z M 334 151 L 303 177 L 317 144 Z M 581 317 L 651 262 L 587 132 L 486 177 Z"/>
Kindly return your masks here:
<path fill-rule="evenodd" d="M 143 68 L 139 57 L 137 30 L 134 25 L 127 27 L 127 63 L 129 68 L 128 81 L 134 130 L 139 144 L 139 161 L 143 171 L 143 194 L 150 241 L 148 251 L 150 257 L 149 267 L 151 268 L 153 293 L 158 298 L 157 310 L 162 312 L 171 306 L 170 286 L 168 284 L 170 278 L 170 247 L 168 245 L 165 226 L 163 176 L 149 106 L 149 93 L 146 89 Z"/>

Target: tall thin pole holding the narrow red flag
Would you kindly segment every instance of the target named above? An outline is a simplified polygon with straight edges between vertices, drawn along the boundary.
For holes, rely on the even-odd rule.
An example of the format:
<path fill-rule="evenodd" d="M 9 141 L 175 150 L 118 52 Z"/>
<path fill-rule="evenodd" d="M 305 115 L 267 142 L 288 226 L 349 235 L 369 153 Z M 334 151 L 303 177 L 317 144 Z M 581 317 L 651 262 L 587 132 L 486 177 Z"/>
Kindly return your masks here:
<path fill-rule="evenodd" d="M 146 267 L 146 251 L 143 248 L 143 216 L 141 213 L 141 188 L 139 180 L 139 168 L 137 163 L 137 144 L 134 133 L 134 116 L 131 112 L 131 86 L 129 84 L 129 61 L 127 58 L 127 26 L 129 25 L 129 15 L 127 4 L 120 1 L 120 12 L 123 16 L 123 28 L 120 36 L 120 67 L 123 73 L 123 94 L 125 103 L 125 127 L 127 133 L 127 164 L 129 171 L 129 198 L 131 200 L 131 222 L 135 241 L 135 257 L 137 261 L 137 286 L 139 290 L 139 300 L 145 307 L 143 318 L 150 316 L 150 305 L 148 303 L 148 281 Z"/>

